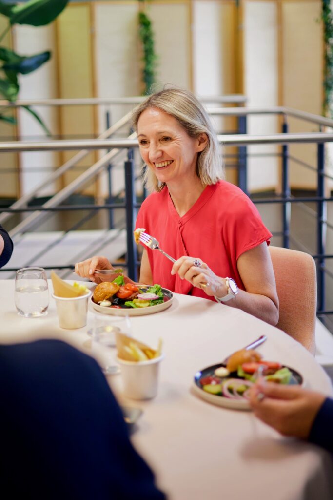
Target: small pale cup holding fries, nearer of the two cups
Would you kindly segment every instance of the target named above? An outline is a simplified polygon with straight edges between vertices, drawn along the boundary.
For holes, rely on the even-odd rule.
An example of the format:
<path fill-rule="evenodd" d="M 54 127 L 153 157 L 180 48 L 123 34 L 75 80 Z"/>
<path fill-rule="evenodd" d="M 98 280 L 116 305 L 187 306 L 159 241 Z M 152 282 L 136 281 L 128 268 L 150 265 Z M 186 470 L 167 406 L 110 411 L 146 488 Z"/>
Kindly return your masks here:
<path fill-rule="evenodd" d="M 117 357 L 123 394 L 130 399 L 151 399 L 157 394 L 158 369 L 164 354 L 147 361 L 125 361 Z"/>

